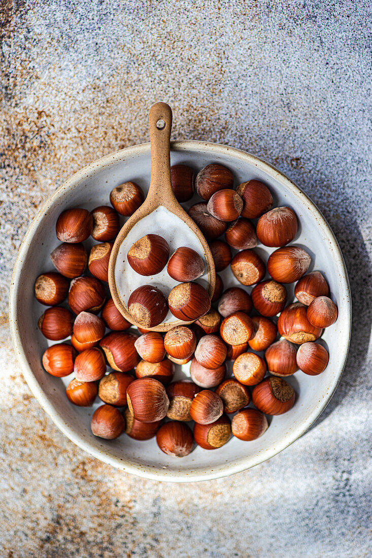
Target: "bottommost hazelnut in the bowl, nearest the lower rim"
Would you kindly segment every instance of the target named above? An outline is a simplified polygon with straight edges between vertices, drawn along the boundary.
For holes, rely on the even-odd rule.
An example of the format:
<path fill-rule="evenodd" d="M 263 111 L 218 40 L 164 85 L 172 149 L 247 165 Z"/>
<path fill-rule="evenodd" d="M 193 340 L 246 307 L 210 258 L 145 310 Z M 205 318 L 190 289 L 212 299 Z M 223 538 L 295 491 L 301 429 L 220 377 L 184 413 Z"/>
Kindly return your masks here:
<path fill-rule="evenodd" d="M 194 438 L 187 424 L 170 421 L 160 426 L 156 433 L 156 444 L 167 455 L 185 457 L 193 449 Z"/>

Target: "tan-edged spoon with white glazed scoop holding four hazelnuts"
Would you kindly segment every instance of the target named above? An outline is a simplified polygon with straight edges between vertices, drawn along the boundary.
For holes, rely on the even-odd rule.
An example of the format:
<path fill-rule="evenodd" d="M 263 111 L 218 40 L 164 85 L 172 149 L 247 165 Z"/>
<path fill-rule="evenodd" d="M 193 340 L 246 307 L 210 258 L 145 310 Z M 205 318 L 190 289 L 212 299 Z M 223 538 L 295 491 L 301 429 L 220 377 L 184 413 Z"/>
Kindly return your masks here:
<path fill-rule="evenodd" d="M 128 300 L 131 292 L 122 292 L 123 283 L 122 277 L 127 273 L 128 277 L 133 270 L 131 270 L 127 262 L 128 249 L 136 240 L 145 236 L 145 234 L 162 234 L 161 227 L 163 223 L 171 218 L 171 227 L 173 229 L 174 238 L 177 239 L 178 246 L 190 246 L 197 249 L 197 251 L 204 257 L 207 263 L 207 291 L 212 298 L 214 292 L 214 285 L 216 283 L 216 271 L 214 268 L 214 261 L 212 253 L 208 247 L 207 241 L 204 238 L 201 230 L 197 227 L 194 221 L 189 217 L 186 211 L 180 206 L 177 199 L 173 194 L 170 181 L 170 131 L 172 126 L 172 111 L 166 103 L 156 103 L 152 105 L 149 114 L 149 127 L 150 127 L 150 142 L 151 142 L 151 180 L 149 193 L 146 200 L 139 209 L 127 220 L 120 233 L 118 234 L 115 244 L 112 248 L 111 257 L 108 266 L 108 284 L 111 291 L 111 296 L 115 302 L 116 307 L 120 310 L 121 314 L 126 320 L 133 325 L 139 325 L 129 314 L 125 299 Z M 168 210 L 168 213 L 164 211 Z M 155 213 L 154 213 L 155 212 Z M 150 214 L 151 218 L 148 216 Z M 173 214 L 173 217 L 170 215 Z M 185 230 L 185 225 L 187 225 Z M 132 230 L 132 229 L 135 230 Z M 190 233 L 191 232 L 191 233 Z M 177 234 L 178 233 L 178 234 Z M 188 233 L 188 234 L 185 234 Z M 196 238 L 195 238 L 196 237 Z M 130 243 L 130 245 L 128 245 Z M 163 272 L 161 272 L 163 273 Z M 166 268 L 165 268 L 166 273 Z M 159 274 L 160 275 L 160 274 Z M 138 279 L 137 279 L 138 278 Z M 158 276 L 143 277 L 137 275 L 130 281 L 130 291 L 139 287 L 140 285 L 155 285 L 163 291 L 166 298 L 168 298 L 169 291 L 177 284 L 172 283 L 172 286 L 166 287 L 158 284 Z M 167 281 L 169 276 L 167 277 Z M 137 281 L 136 286 L 133 286 L 134 281 Z M 164 280 L 164 283 L 166 281 Z M 163 286 L 163 288 L 161 288 Z M 189 324 L 178 320 L 173 315 L 168 315 L 164 323 L 151 328 L 153 331 L 168 331 L 176 325 Z"/>

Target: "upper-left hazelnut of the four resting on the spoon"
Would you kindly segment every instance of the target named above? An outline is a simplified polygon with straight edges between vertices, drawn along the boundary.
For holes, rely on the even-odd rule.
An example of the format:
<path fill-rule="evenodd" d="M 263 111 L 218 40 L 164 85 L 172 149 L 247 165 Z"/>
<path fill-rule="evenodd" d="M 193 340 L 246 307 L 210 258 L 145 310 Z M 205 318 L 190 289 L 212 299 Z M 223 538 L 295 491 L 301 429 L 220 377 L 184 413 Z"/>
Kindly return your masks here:
<path fill-rule="evenodd" d="M 133 270 L 145 277 L 160 273 L 168 258 L 168 242 L 159 234 L 146 234 L 130 247 L 127 254 L 127 260 Z"/>

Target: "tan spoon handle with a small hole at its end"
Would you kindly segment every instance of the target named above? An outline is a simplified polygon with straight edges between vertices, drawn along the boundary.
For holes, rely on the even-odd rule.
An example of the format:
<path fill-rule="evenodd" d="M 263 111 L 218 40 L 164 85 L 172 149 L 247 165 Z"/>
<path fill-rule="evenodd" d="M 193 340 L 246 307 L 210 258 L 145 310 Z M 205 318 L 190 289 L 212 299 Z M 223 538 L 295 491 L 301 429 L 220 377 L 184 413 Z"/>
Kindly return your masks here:
<path fill-rule="evenodd" d="M 172 111 L 166 103 L 155 103 L 149 113 L 151 180 L 147 201 L 174 199 L 170 181 L 170 131 Z"/>

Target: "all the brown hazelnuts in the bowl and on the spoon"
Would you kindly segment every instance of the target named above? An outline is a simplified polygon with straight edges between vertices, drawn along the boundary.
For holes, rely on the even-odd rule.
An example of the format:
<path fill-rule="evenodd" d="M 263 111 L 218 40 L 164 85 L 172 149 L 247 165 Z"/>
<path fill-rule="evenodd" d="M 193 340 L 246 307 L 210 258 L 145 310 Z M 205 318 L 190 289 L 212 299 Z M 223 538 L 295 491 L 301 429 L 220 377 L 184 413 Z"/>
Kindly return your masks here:
<path fill-rule="evenodd" d="M 41 333 L 64 340 L 45 350 L 46 372 L 56 377 L 74 373 L 66 388 L 74 405 L 91 406 L 97 395 L 103 403 L 92 416 L 93 434 L 115 439 L 126 432 L 136 440 L 156 435 L 162 451 L 182 457 L 194 441 L 216 449 L 231 433 L 255 440 L 268 428 L 265 415 L 289 411 L 295 392 L 284 378 L 298 369 L 311 376 L 323 372 L 328 352 L 316 341 L 335 322 L 337 309 L 322 273 L 306 275 L 309 254 L 288 246 L 297 234 L 294 211 L 273 209 L 263 182 L 250 180 L 234 190 L 232 172 L 216 163 L 195 180 L 190 167 L 175 165 L 171 182 L 180 203 L 195 190 L 203 199 L 189 215 L 207 238 L 216 264 L 212 299 L 195 282 L 204 273 L 199 254 L 180 247 L 169 258 L 164 238 L 148 234 L 130 248 L 128 262 L 142 276 L 167 266 L 179 284 L 168 300 L 151 285 L 132 292 L 128 311 L 141 325 L 137 330 L 117 310 L 107 287 L 108 261 L 119 214 L 132 215 L 144 201 L 135 182 L 111 191 L 112 207 L 61 213 L 56 222 L 61 244 L 50 254 L 56 271 L 37 277 L 35 296 L 50 306 L 39 319 Z M 223 234 L 225 240 L 219 238 Z M 89 236 L 97 243 L 88 254 L 83 242 Z M 276 248 L 266 263 L 254 251 L 258 241 Z M 218 273 L 228 266 L 242 287 L 224 290 Z M 264 281 L 266 269 L 270 278 Z M 293 282 L 298 302 L 286 306 L 286 285 Z M 250 293 L 246 286 L 253 286 Z M 66 298 L 69 307 L 61 306 Z M 193 323 L 164 336 L 147 329 L 161 324 L 168 309 Z M 227 360 L 233 362 L 230 378 Z M 172 382 L 175 364 L 188 362 L 192 381 Z M 248 407 L 250 402 L 255 408 Z M 193 431 L 189 421 L 194 421 Z"/>

